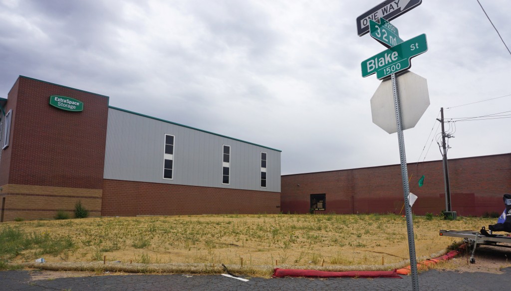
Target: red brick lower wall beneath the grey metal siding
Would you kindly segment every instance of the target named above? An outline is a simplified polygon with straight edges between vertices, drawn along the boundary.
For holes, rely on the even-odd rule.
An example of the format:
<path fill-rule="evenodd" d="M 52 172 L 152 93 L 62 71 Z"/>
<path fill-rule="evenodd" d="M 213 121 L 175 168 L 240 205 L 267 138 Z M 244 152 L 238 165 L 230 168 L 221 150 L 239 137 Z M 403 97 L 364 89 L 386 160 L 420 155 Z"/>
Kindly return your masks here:
<path fill-rule="evenodd" d="M 280 202 L 278 192 L 105 179 L 101 215 L 279 213 Z"/>

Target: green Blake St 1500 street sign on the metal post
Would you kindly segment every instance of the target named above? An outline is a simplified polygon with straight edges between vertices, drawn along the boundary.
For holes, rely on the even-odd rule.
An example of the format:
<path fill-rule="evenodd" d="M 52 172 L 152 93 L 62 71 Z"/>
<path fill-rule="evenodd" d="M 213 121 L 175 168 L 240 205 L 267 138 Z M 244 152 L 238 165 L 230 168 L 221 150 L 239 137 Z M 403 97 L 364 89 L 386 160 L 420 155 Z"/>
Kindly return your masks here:
<path fill-rule="evenodd" d="M 378 79 L 390 74 L 409 69 L 410 59 L 428 50 L 426 35 L 421 34 L 412 39 L 394 45 L 376 56 L 362 62 L 362 77 L 376 73 Z"/>

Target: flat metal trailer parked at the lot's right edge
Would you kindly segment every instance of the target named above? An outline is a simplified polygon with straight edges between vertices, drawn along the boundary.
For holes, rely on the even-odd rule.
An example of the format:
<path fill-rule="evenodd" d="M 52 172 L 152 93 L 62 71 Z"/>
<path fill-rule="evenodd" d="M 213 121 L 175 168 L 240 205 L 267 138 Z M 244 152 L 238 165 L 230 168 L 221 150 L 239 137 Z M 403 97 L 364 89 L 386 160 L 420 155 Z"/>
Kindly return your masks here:
<path fill-rule="evenodd" d="M 489 236 L 487 236 L 476 230 L 440 230 L 440 236 L 463 238 L 463 243 L 467 245 L 467 251 L 471 251 L 471 263 L 476 262 L 474 253 L 476 251 L 477 245 L 511 248 L 511 236 L 506 236 L 503 234 L 489 234 Z"/>

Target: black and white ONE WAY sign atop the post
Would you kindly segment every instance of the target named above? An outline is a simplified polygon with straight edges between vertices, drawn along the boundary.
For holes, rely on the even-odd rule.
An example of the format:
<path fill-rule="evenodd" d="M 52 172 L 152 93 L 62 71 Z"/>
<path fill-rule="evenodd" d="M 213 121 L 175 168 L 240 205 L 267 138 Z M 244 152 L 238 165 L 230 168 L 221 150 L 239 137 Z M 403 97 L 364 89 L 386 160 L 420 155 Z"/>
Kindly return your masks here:
<path fill-rule="evenodd" d="M 421 5 L 421 3 L 422 0 L 387 0 L 378 4 L 357 17 L 358 36 L 362 36 L 369 32 L 369 19 L 376 21 L 382 17 L 390 21 Z"/>

